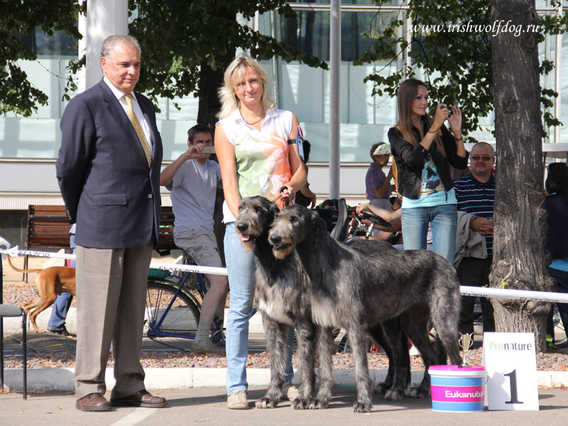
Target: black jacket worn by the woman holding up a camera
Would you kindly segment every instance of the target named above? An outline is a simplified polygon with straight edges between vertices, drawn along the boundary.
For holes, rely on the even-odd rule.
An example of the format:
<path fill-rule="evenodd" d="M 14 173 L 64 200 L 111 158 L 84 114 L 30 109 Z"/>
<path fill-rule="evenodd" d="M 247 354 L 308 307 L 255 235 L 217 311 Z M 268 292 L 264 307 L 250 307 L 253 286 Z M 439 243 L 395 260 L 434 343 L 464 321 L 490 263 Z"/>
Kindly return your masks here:
<path fill-rule="evenodd" d="M 429 126 L 424 124 L 424 134 L 427 133 Z M 435 141 L 432 142 L 429 150 L 426 150 L 420 143 L 413 147 L 410 142 L 403 139 L 402 134 L 395 127 L 388 130 L 388 141 L 391 143 L 391 153 L 398 169 L 397 190 L 398 193 L 412 200 L 420 197 L 420 182 L 422 180 L 422 168 L 426 162 L 428 154 L 438 169 L 440 178 L 446 191 L 454 187 L 454 180 L 450 173 L 449 165 L 454 168 L 464 169 L 467 167 L 467 158 L 457 155 L 456 140 L 452 133 L 449 133 L 446 126 L 442 126 L 442 143 L 446 156 L 444 157 L 437 149 Z M 422 140 L 418 129 L 413 127 L 413 132 L 418 141 Z"/>

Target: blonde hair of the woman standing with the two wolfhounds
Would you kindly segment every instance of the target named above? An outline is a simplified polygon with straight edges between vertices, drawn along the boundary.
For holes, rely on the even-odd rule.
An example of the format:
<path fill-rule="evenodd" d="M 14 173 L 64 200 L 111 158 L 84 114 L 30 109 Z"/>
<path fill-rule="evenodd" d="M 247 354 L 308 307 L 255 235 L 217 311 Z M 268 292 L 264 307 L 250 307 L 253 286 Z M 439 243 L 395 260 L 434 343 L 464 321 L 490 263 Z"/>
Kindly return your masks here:
<path fill-rule="evenodd" d="M 235 83 L 241 80 L 248 67 L 251 67 L 262 81 L 261 102 L 264 111 L 268 112 L 275 109 L 275 103 L 268 92 L 270 82 L 266 71 L 263 67 L 261 67 L 261 64 L 259 64 L 256 60 L 253 60 L 253 58 L 249 56 L 241 56 L 241 58 L 233 60 L 233 62 L 231 62 L 229 67 L 225 70 L 224 84 L 223 87 L 219 89 L 219 100 L 221 101 L 221 111 L 217 114 L 219 119 L 224 119 L 231 115 L 235 109 L 241 106 L 241 102 L 235 94 Z"/>

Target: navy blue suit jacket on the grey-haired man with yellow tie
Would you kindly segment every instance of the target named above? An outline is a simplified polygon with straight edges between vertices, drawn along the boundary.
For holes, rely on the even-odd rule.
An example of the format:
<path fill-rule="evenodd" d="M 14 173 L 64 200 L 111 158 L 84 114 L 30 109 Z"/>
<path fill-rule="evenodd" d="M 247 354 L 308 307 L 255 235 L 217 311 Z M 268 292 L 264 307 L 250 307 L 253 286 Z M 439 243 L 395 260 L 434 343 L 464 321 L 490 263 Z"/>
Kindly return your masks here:
<path fill-rule="evenodd" d="M 150 126 L 152 166 L 119 101 L 104 81 L 75 96 L 61 117 L 55 163 L 77 245 L 126 249 L 158 241 L 162 141 L 153 104 L 136 93 Z"/>

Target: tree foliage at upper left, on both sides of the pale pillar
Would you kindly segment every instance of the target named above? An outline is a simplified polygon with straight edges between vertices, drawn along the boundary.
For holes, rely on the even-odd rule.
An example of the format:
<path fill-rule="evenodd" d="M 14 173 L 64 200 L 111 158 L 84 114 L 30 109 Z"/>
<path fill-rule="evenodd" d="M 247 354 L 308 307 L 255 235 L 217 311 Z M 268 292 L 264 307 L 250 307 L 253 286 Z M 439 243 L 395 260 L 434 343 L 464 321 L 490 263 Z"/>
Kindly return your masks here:
<path fill-rule="evenodd" d="M 48 104 L 48 96 L 28 80 L 16 61 L 36 60 L 37 55 L 21 42 L 39 27 L 48 35 L 63 30 L 76 39 L 77 13 L 80 6 L 70 0 L 0 0 L 0 35 L 5 40 L 0 50 L 0 112 L 14 111 L 30 116 L 38 105 Z M 83 4 L 82 11 L 86 9 Z M 252 18 L 255 13 L 278 11 L 286 18 L 295 12 L 284 0 L 129 0 L 129 33 L 141 43 L 143 68 L 137 89 L 156 102 L 158 97 L 173 99 L 189 94 L 200 95 L 202 67 L 213 72 L 224 70 L 227 58 L 237 48 L 254 58 L 278 56 L 286 61 L 299 60 L 312 67 L 327 69 L 327 64 L 281 43 L 275 38 L 253 31 L 236 21 L 237 13 Z M 74 75 L 84 65 L 84 58 L 70 61 L 67 92 L 76 89 Z M 203 96 L 216 97 L 209 88 Z"/>

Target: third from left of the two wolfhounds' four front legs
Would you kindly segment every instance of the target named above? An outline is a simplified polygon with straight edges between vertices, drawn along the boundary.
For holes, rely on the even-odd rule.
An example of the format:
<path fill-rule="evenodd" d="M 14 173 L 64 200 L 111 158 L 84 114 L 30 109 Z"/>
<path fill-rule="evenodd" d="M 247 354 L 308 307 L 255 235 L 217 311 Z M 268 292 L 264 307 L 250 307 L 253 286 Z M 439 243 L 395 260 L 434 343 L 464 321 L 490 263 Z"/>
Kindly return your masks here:
<path fill-rule="evenodd" d="M 330 327 L 316 328 L 316 348 L 319 356 L 320 365 L 317 367 L 318 376 L 320 376 L 320 389 L 313 405 L 310 408 L 327 408 L 329 399 L 332 397 L 333 388 L 333 359 L 335 352 L 333 342 L 333 332 Z"/>

